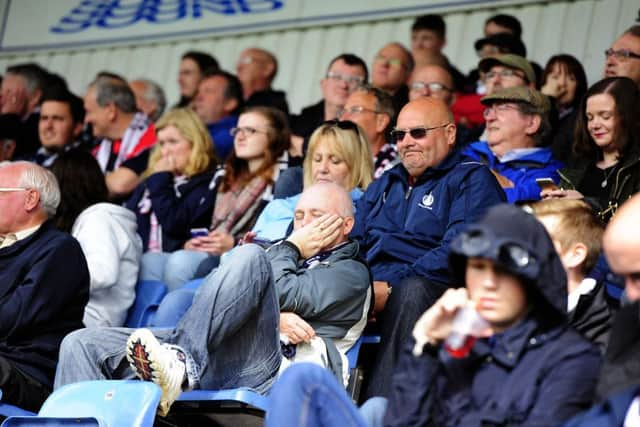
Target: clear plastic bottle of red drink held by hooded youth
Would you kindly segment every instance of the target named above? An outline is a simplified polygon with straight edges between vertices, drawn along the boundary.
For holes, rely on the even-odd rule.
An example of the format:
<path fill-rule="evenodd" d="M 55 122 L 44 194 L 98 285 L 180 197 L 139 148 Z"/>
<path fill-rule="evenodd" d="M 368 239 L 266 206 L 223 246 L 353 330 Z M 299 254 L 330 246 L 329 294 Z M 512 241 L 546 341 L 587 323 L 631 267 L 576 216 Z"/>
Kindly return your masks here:
<path fill-rule="evenodd" d="M 444 342 L 444 348 L 455 358 L 467 357 L 471 347 L 489 324 L 472 307 L 462 307 L 456 313 L 451 325 L 451 333 Z"/>

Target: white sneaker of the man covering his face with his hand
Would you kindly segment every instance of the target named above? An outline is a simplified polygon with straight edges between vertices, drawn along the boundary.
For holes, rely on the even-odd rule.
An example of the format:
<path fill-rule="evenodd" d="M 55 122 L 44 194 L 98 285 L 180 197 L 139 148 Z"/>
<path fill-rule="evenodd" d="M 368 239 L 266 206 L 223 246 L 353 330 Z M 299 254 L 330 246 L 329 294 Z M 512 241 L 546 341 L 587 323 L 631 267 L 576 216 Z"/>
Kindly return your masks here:
<path fill-rule="evenodd" d="M 127 340 L 127 360 L 143 381 L 152 381 L 162 389 L 158 413 L 166 416 L 182 393 L 186 376 L 184 352 L 177 346 L 160 344 L 148 329 L 134 331 Z"/>

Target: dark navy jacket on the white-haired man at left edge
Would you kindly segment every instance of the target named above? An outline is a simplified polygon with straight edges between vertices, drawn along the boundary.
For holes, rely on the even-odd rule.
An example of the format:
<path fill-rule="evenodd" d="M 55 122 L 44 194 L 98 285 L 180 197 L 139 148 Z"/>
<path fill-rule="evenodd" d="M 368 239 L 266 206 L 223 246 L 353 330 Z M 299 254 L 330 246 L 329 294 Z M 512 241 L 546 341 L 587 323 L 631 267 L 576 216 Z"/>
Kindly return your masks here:
<path fill-rule="evenodd" d="M 83 327 L 88 300 L 80 244 L 50 221 L 0 249 L 0 356 L 52 387 L 60 342 Z"/>

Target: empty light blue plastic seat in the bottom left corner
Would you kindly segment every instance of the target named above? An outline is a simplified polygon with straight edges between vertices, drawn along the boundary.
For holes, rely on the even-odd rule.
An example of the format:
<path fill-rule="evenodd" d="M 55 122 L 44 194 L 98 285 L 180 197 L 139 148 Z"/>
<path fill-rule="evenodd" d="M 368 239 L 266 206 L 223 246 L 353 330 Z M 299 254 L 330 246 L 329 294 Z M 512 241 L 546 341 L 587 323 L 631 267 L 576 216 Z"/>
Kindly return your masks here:
<path fill-rule="evenodd" d="M 146 381 L 84 381 L 56 390 L 35 417 L 9 417 L 3 427 L 151 427 L 160 387 Z"/>

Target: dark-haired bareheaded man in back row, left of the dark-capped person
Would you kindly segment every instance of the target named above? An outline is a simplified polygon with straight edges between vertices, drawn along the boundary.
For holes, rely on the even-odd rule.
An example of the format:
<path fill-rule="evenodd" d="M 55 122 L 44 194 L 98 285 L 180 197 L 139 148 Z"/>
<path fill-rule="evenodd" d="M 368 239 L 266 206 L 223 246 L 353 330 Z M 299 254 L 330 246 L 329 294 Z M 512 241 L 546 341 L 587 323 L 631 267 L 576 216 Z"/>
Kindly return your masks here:
<path fill-rule="evenodd" d="M 469 89 L 467 78 L 442 53 L 447 43 L 446 34 L 447 26 L 442 16 L 418 16 L 411 26 L 411 55 L 416 67 L 439 65 L 445 68 L 453 77 L 453 84 L 449 87 L 465 92 Z"/>

